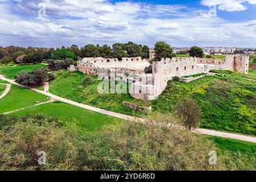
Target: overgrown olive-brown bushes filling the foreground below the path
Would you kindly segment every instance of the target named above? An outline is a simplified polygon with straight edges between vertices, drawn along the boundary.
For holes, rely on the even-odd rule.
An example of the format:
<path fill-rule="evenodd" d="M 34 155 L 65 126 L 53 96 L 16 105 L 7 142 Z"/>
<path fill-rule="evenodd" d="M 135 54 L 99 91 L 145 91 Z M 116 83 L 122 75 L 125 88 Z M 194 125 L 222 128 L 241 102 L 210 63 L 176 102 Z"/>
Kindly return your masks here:
<path fill-rule="evenodd" d="M 245 155 L 255 144 L 167 129 L 170 116 L 150 118 L 148 125 L 115 123 L 93 133 L 43 115 L 0 118 L 1 170 L 254 170 L 256 164 Z M 39 166 L 39 151 L 46 152 L 46 165 Z M 217 165 L 209 164 L 209 151 L 217 151 Z"/>

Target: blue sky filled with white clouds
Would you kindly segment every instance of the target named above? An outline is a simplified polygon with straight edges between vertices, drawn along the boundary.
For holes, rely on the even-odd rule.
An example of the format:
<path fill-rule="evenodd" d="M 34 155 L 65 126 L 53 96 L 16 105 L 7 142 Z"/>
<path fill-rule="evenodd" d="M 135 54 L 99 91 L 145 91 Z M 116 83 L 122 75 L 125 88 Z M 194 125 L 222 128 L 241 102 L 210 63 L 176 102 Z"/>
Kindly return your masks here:
<path fill-rule="evenodd" d="M 0 46 L 129 41 L 256 47 L 256 0 L 0 0 Z"/>

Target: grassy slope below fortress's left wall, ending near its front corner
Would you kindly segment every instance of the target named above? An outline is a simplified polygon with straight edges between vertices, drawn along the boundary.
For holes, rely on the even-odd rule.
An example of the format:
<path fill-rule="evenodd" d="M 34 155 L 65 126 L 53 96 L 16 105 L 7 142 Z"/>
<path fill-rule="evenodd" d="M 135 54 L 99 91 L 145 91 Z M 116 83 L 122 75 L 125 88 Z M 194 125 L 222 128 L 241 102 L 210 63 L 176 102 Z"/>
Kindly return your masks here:
<path fill-rule="evenodd" d="M 133 97 L 127 94 L 111 94 L 98 93 L 97 87 L 101 81 L 97 77 L 91 77 L 93 83 L 87 86 L 82 85 L 84 74 L 80 72 L 70 73 L 68 71 L 57 71 L 55 80 L 51 81 L 49 91 L 57 96 L 67 98 L 82 104 L 99 107 L 110 111 L 115 111 L 122 114 L 130 114 L 141 116 L 142 114 L 134 112 L 131 109 L 122 105 L 122 101 L 133 102 L 134 104 L 144 105 L 150 102 L 134 100 Z"/>

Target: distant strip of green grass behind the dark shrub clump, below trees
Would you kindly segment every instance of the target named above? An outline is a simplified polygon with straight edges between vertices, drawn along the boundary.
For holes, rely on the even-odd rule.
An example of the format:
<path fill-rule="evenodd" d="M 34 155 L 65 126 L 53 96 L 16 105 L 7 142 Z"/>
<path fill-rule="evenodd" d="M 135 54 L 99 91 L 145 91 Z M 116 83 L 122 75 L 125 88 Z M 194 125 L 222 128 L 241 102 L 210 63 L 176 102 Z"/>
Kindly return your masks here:
<path fill-rule="evenodd" d="M 32 71 L 35 68 L 46 68 L 47 65 L 44 64 L 33 64 L 33 65 L 19 65 L 16 67 L 1 67 L 0 68 L 0 75 L 5 76 L 9 79 L 15 79 L 15 75 L 18 75 L 21 71 Z"/>

